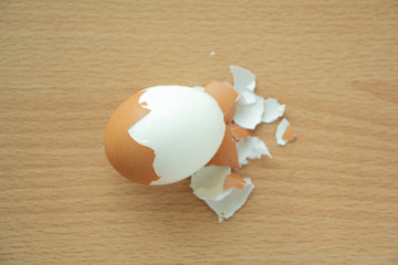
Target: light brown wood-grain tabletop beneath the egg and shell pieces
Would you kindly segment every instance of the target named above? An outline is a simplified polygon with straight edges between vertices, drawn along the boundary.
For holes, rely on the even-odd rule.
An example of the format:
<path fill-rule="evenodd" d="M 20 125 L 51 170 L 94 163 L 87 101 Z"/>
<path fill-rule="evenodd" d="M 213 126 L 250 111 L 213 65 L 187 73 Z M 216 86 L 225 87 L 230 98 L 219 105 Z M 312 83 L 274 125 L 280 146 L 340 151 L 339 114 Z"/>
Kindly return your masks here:
<path fill-rule="evenodd" d="M 216 55 L 210 56 L 214 51 Z M 158 84 L 258 75 L 297 140 L 231 220 L 103 146 Z M 0 264 L 398 264 L 397 1 L 0 1 Z"/>

